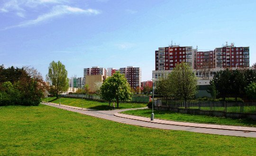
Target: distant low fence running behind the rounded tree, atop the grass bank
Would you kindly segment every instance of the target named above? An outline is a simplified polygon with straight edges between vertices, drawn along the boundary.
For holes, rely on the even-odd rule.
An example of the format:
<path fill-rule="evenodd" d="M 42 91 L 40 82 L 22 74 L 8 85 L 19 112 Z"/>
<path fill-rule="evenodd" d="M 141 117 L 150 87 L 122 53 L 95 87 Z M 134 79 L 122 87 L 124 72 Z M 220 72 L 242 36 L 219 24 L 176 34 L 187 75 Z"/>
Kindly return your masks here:
<path fill-rule="evenodd" d="M 92 100 L 102 100 L 101 96 L 99 95 L 82 95 L 82 94 L 66 94 L 66 95 L 59 95 L 60 97 L 73 97 L 73 98 L 85 98 L 85 99 L 92 99 Z M 149 96 L 132 96 L 131 100 L 128 102 L 137 102 L 137 103 L 148 103 L 150 100 Z M 102 100 L 104 101 L 104 100 Z"/>

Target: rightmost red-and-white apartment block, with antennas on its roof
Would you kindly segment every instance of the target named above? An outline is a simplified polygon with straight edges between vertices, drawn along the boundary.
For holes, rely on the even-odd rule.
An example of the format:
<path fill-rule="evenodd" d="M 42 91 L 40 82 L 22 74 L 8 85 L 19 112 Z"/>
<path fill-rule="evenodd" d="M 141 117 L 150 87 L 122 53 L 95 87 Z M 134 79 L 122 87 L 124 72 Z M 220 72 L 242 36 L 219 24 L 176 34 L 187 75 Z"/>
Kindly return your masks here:
<path fill-rule="evenodd" d="M 235 47 L 226 44 L 215 48 L 215 68 L 249 67 L 249 47 Z"/>

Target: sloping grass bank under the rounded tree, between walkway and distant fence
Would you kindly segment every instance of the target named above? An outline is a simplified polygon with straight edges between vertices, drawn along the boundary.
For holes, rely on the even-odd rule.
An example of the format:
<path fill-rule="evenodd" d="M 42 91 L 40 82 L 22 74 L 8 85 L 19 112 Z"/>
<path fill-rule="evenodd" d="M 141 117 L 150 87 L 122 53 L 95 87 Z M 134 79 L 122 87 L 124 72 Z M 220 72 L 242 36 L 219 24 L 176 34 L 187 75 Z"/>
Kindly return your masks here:
<path fill-rule="evenodd" d="M 47 98 L 44 98 L 43 101 L 47 102 Z M 56 99 L 51 103 L 59 104 L 60 101 L 61 101 L 61 104 L 81 107 L 81 108 L 83 103 L 83 108 L 90 108 L 95 110 L 111 110 L 113 108 L 112 103 L 109 106 L 109 103 L 103 103 L 103 102 L 85 100 L 85 99 L 82 100 L 82 99 L 76 99 L 76 98 L 64 98 L 64 97 L 61 97 L 60 99 Z M 115 106 L 117 107 L 116 103 L 115 103 Z M 146 107 L 146 104 L 119 103 L 119 109 L 139 108 L 139 107 Z"/>

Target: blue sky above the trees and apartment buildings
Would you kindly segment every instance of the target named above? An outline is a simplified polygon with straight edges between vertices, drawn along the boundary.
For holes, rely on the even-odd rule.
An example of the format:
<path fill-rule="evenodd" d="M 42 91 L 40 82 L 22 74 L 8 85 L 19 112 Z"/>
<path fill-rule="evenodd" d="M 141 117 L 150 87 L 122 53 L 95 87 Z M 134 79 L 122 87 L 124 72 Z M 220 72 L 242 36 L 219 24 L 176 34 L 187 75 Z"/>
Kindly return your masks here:
<path fill-rule="evenodd" d="M 171 41 L 213 50 L 250 46 L 256 62 L 255 0 L 1 0 L 0 64 L 47 74 L 62 61 L 68 77 L 83 68 L 140 67 L 152 78 L 155 50 Z"/>

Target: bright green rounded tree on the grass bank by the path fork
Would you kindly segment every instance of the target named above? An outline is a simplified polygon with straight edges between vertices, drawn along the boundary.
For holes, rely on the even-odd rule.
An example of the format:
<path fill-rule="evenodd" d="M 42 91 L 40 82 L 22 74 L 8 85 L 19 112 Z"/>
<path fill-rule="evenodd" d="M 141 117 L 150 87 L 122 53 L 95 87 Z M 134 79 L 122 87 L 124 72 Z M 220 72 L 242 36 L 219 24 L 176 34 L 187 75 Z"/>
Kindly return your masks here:
<path fill-rule="evenodd" d="M 105 84 L 106 83 L 106 84 Z M 101 95 L 103 99 L 105 94 L 109 94 L 109 99 L 115 99 L 117 101 L 117 108 L 119 108 L 119 102 L 131 99 L 131 88 L 128 84 L 125 76 L 116 72 L 113 76 L 107 78 L 101 86 Z M 106 100 L 106 99 L 105 99 Z"/>

